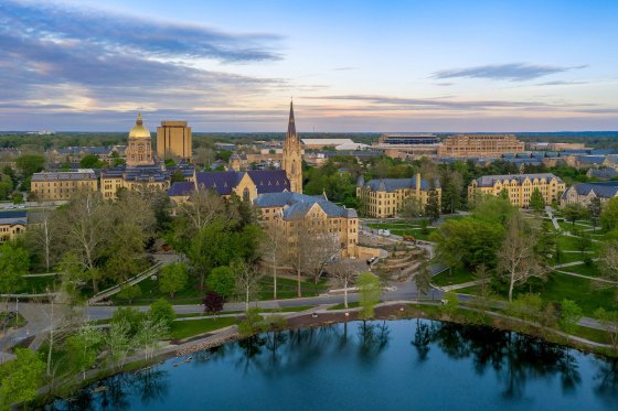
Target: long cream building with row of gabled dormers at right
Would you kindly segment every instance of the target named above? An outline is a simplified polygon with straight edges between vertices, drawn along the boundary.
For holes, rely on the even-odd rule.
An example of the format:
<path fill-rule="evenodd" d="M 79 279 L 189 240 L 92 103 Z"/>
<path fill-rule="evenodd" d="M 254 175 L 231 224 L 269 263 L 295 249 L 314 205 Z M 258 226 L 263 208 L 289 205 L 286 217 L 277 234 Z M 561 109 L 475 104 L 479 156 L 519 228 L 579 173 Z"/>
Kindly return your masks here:
<path fill-rule="evenodd" d="M 561 198 L 566 185 L 551 173 L 483 175 L 472 180 L 468 186 L 468 198 L 473 199 L 479 194 L 498 196 L 502 191 L 507 191 L 512 205 L 528 207 L 535 188 L 543 194 L 545 204 L 550 205 Z"/>

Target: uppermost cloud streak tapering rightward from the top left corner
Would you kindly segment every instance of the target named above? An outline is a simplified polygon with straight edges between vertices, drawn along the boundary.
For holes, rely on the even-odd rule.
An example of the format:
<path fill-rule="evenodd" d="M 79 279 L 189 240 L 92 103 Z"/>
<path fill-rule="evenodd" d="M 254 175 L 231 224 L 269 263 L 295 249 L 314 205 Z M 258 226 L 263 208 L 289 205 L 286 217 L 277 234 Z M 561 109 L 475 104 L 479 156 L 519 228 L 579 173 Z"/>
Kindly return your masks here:
<path fill-rule="evenodd" d="M 223 62 L 274 61 L 275 34 L 231 34 L 214 29 L 157 22 L 135 15 L 49 2 L 4 1 L 4 32 L 58 43 L 84 42 L 99 50 L 147 56 L 214 58 Z"/>

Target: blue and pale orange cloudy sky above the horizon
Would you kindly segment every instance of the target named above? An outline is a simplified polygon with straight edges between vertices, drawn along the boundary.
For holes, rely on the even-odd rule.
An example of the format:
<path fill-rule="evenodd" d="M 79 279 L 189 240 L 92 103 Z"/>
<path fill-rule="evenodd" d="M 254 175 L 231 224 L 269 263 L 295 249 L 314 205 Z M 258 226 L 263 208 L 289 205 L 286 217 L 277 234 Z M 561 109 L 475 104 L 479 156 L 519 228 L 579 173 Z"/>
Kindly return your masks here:
<path fill-rule="evenodd" d="M 0 130 L 618 130 L 618 1 L 0 0 Z"/>

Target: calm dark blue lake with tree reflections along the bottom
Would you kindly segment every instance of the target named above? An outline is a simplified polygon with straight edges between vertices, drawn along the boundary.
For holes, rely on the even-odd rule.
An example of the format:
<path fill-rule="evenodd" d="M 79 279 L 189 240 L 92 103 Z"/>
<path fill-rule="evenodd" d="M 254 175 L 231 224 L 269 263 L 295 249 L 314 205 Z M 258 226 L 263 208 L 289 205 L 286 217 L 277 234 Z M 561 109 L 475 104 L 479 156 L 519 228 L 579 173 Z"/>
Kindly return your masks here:
<path fill-rule="evenodd" d="M 61 410 L 618 410 L 618 363 L 431 321 L 265 334 L 82 390 Z"/>

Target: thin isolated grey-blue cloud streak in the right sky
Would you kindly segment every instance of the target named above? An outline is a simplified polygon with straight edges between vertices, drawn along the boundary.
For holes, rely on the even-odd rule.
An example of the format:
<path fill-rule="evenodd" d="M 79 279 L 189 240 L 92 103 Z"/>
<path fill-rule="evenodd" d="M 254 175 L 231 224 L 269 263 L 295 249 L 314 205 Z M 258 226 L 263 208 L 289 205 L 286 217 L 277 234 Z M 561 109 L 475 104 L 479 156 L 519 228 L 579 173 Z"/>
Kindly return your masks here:
<path fill-rule="evenodd" d="M 585 68 L 532 65 L 524 63 L 496 64 L 467 68 L 454 68 L 436 72 L 431 78 L 488 78 L 493 80 L 524 82 L 551 74 L 564 73 L 572 69 Z"/>

